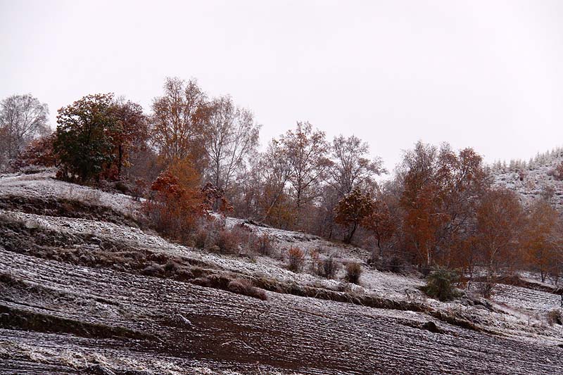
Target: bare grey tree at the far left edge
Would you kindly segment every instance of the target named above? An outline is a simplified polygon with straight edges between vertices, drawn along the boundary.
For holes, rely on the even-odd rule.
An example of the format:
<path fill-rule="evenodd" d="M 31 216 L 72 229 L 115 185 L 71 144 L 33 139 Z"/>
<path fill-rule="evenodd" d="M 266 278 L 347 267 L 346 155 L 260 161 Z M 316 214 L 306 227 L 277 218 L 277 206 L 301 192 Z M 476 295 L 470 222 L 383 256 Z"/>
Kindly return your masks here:
<path fill-rule="evenodd" d="M 0 102 L 0 164 L 13 159 L 33 139 L 49 133 L 49 108 L 31 94 L 8 96 Z"/>

